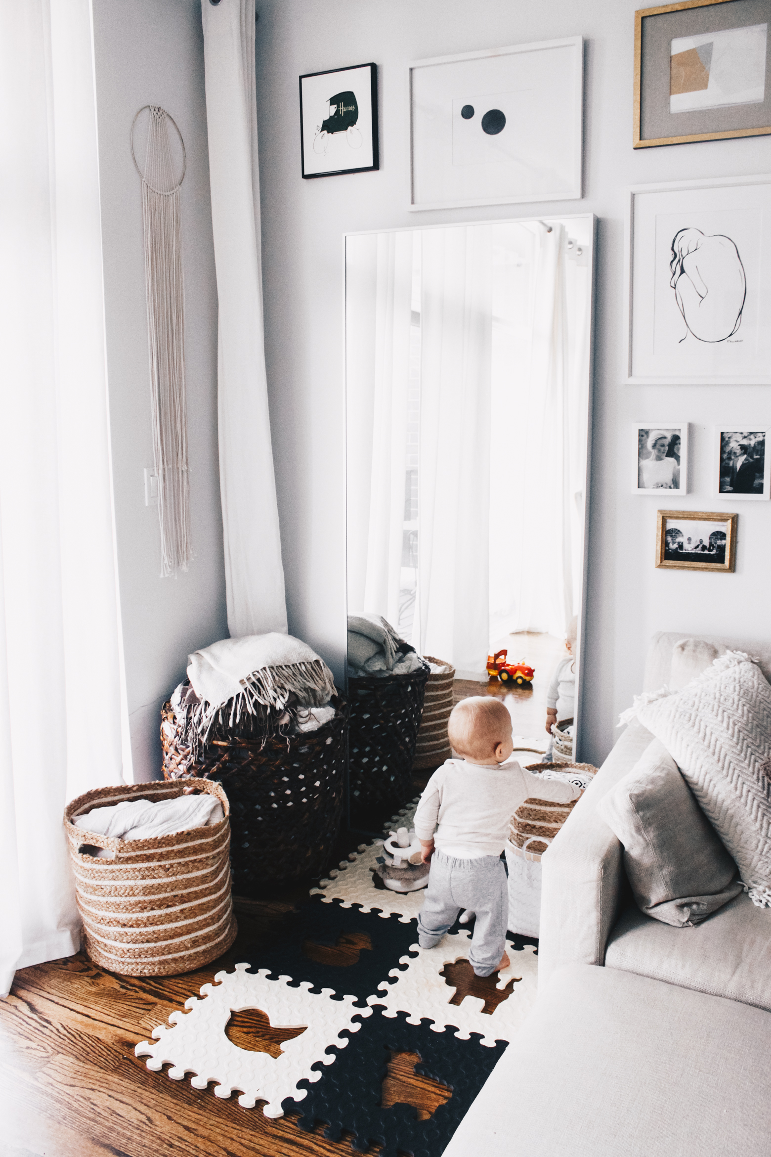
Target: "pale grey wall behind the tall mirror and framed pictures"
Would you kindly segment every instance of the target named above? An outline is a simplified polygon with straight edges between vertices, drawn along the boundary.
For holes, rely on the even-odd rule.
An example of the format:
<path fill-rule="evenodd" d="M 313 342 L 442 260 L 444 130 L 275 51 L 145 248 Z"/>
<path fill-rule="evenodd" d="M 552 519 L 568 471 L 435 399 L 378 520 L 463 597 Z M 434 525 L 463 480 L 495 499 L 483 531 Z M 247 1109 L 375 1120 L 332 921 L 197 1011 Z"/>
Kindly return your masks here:
<path fill-rule="evenodd" d="M 258 0 L 258 118 L 274 454 L 290 624 L 340 673 L 344 646 L 342 246 L 347 230 L 529 215 L 539 206 L 421 213 L 407 202 L 409 60 L 563 36 L 586 38 L 585 197 L 598 230 L 593 485 L 583 758 L 599 762 L 643 677 L 655 629 L 769 638 L 771 504 L 736 503 L 735 575 L 657 570 L 655 498 L 629 492 L 630 421 L 694 423 L 694 493 L 710 510 L 709 427 L 771 422 L 766 388 L 622 386 L 624 190 L 771 171 L 771 138 L 633 150 L 633 0 Z M 302 73 L 379 66 L 380 171 L 301 178 Z M 733 509 L 727 506 L 727 509 Z"/>

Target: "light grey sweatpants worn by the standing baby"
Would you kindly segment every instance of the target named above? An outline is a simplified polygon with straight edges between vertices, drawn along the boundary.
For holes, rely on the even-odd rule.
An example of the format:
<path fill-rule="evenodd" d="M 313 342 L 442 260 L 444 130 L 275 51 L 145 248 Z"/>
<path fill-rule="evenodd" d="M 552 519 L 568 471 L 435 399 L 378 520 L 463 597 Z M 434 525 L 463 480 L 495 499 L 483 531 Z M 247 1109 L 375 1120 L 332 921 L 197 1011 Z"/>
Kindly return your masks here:
<path fill-rule="evenodd" d="M 509 884 L 498 856 L 455 860 L 437 848 L 425 900 L 417 918 L 417 943 L 433 948 L 455 922 L 461 908 L 476 914 L 468 959 L 477 977 L 498 967 L 506 946 Z"/>

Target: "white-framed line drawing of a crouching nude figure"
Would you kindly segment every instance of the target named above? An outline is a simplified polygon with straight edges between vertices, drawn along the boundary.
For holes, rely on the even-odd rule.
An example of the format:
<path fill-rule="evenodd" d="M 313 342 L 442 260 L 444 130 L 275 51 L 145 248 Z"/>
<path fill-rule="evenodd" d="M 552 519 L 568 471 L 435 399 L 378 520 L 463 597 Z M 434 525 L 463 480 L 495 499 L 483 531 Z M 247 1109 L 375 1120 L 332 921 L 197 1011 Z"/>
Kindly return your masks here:
<path fill-rule="evenodd" d="M 771 384 L 771 177 L 630 190 L 624 379 Z"/>

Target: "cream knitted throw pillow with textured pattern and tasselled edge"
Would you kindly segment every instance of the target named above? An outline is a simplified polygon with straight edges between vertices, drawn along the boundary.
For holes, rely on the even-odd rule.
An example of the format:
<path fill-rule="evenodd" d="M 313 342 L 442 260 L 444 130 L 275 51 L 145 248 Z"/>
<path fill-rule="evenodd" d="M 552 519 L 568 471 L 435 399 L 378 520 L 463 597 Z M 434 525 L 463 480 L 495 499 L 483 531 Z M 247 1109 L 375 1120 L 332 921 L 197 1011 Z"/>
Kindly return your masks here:
<path fill-rule="evenodd" d="M 728 651 L 682 691 L 642 695 L 633 713 L 680 767 L 753 904 L 771 907 L 771 686 L 761 669 Z"/>

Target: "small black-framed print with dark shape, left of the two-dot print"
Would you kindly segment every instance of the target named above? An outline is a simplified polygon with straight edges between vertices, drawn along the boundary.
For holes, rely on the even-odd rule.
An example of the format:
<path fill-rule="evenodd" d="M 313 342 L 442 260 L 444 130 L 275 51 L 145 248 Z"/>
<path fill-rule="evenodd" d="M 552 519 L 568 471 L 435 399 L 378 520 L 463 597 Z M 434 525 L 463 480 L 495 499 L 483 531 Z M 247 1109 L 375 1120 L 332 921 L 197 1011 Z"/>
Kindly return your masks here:
<path fill-rule="evenodd" d="M 377 65 L 299 78 L 299 155 L 306 178 L 380 167 Z"/>

